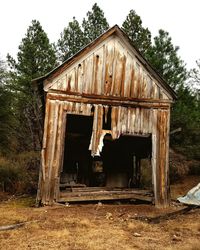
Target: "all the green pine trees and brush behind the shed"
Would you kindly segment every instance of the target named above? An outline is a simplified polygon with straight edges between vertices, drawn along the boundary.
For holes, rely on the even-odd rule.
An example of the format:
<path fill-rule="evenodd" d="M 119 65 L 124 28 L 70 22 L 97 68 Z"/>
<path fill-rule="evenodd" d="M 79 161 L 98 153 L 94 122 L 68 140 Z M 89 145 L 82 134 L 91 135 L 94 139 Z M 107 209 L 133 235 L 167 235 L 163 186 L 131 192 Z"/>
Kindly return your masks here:
<path fill-rule="evenodd" d="M 33 182 L 37 179 L 43 107 L 38 106 L 31 80 L 51 71 L 108 28 L 104 12 L 97 4 L 86 13 L 81 24 L 73 17 L 56 43 L 51 43 L 40 22 L 33 20 L 19 44 L 16 58 L 8 54 L 6 61 L 0 60 L 0 184 L 3 189 L 13 189 L 16 180 L 24 180 L 23 171 L 32 173 Z M 188 70 L 170 34 L 160 29 L 152 37 L 134 10 L 127 13 L 121 28 L 177 93 L 171 130 L 181 128 L 181 131 L 171 135 L 171 147 L 188 159 L 200 160 L 200 61 L 195 69 Z"/>

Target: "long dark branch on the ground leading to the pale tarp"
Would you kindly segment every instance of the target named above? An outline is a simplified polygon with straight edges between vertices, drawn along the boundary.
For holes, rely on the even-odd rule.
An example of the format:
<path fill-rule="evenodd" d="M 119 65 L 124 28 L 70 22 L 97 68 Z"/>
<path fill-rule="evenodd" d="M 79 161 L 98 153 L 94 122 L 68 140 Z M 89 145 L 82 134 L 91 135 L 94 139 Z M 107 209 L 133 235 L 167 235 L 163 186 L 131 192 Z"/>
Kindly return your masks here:
<path fill-rule="evenodd" d="M 135 219 L 135 220 L 141 220 L 141 221 L 146 221 L 151 224 L 157 224 L 160 223 L 161 221 L 164 220 L 169 220 L 169 219 L 174 219 L 176 218 L 177 215 L 183 215 L 188 213 L 189 211 L 199 208 L 199 206 L 188 206 L 186 208 L 180 209 L 175 212 L 167 213 L 167 214 L 162 214 L 157 217 L 147 217 L 147 216 L 139 216 L 139 217 L 130 217 L 130 219 Z"/>

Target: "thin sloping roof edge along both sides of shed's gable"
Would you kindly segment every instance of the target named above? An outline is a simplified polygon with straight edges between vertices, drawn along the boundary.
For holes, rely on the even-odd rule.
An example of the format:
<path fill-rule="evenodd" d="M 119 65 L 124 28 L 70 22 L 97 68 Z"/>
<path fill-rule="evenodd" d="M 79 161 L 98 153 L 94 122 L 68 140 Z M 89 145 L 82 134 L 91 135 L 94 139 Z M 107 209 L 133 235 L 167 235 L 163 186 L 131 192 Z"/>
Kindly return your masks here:
<path fill-rule="evenodd" d="M 161 75 L 147 62 L 147 60 L 143 57 L 143 55 L 139 52 L 139 50 L 132 44 L 132 41 L 129 39 L 126 33 L 122 29 L 120 29 L 118 25 L 114 25 L 112 28 L 108 29 L 105 33 L 103 33 L 94 41 L 92 41 L 87 46 L 78 51 L 75 55 L 73 55 L 72 57 L 64 61 L 62 64 L 60 64 L 58 67 L 54 68 L 52 71 L 50 71 L 49 73 L 47 73 L 42 77 L 33 79 L 32 82 L 41 83 L 44 82 L 45 80 L 53 79 L 54 77 L 64 72 L 70 65 L 76 62 L 80 57 L 87 54 L 91 49 L 93 49 L 102 41 L 104 41 L 105 39 L 114 34 L 124 39 L 128 43 L 128 45 L 131 46 L 131 48 L 134 50 L 136 58 L 143 65 L 143 67 L 150 73 L 150 75 L 154 79 L 156 79 L 160 83 L 160 85 L 172 96 L 173 99 L 177 99 L 175 91 L 169 86 L 169 84 L 167 84 L 167 82 L 161 77 Z"/>

